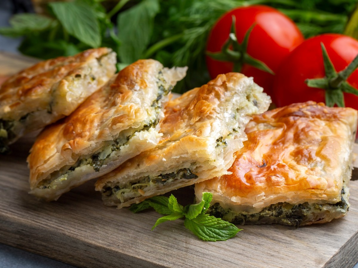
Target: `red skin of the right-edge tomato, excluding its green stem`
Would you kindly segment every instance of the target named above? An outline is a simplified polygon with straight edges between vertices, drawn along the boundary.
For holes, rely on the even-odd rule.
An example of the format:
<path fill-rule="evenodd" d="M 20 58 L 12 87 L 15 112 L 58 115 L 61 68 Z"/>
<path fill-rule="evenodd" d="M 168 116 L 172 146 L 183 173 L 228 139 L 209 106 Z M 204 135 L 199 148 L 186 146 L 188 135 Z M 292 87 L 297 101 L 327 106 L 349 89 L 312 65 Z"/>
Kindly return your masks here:
<path fill-rule="evenodd" d="M 274 94 L 277 106 L 308 100 L 325 102 L 324 89 L 310 88 L 305 84 L 306 79 L 325 77 L 321 43 L 337 72 L 347 67 L 358 54 L 358 41 L 349 36 L 323 34 L 307 39 L 292 51 L 276 73 Z M 357 89 L 358 70 L 347 81 Z M 358 109 L 358 96 L 344 93 L 344 100 L 345 106 Z"/>

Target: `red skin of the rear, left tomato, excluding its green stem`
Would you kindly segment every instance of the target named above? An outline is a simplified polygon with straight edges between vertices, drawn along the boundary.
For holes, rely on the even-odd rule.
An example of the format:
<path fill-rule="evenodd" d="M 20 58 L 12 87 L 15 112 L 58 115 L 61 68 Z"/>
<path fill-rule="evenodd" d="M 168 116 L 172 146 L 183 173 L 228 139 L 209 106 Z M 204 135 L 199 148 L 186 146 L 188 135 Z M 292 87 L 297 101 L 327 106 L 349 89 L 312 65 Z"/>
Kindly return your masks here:
<path fill-rule="evenodd" d="M 304 40 L 294 22 L 278 10 L 268 6 L 248 6 L 233 9 L 217 21 L 209 34 L 207 51 L 221 51 L 230 33 L 232 15 L 236 18 L 239 43 L 242 43 L 251 25 L 255 24 L 248 39 L 247 54 L 265 63 L 274 73 L 281 61 Z M 209 56 L 207 66 L 212 78 L 233 70 L 232 63 L 213 60 Z M 241 72 L 246 76 L 253 76 L 254 81 L 262 86 L 267 94 L 272 95 L 274 75 L 247 64 L 243 65 Z"/>

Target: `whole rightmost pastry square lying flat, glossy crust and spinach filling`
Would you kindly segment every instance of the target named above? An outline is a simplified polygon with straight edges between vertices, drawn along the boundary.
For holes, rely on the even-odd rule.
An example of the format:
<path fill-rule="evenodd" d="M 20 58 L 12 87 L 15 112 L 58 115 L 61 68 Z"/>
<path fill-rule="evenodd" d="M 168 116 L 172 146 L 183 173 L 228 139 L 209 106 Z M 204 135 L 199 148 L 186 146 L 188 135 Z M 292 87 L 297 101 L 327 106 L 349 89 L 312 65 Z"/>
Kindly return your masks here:
<path fill-rule="evenodd" d="M 209 213 L 238 224 L 300 226 L 342 217 L 356 130 L 356 110 L 313 101 L 255 115 L 231 174 L 196 184 L 196 197 L 213 193 Z"/>

